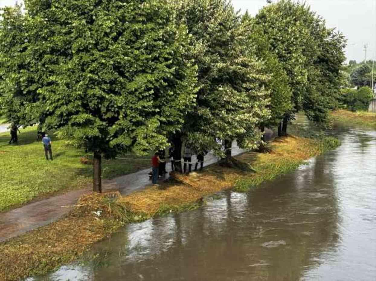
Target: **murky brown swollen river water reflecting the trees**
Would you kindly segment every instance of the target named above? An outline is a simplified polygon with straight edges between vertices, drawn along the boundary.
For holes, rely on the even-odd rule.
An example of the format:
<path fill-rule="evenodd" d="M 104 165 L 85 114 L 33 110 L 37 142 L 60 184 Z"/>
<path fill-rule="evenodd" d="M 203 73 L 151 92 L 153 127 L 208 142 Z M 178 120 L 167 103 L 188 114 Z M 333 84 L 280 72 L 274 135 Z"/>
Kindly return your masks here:
<path fill-rule="evenodd" d="M 248 193 L 130 224 L 101 262 L 29 280 L 376 280 L 376 132 L 342 130 L 337 150 Z"/>

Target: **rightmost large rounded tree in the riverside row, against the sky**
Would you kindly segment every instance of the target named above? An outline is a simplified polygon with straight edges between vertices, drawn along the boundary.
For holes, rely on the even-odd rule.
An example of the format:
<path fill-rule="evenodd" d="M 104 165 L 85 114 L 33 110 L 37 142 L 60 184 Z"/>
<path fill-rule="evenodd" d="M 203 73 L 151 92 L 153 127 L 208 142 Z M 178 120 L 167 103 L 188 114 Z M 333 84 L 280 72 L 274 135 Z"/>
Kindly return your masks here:
<path fill-rule="evenodd" d="M 265 6 L 256 15 L 255 24 L 263 30 L 293 91 L 294 107 L 284 116 L 282 133 L 286 133 L 287 122 L 299 110 L 311 120 L 324 121 L 335 106 L 335 93 L 342 79 L 343 35 L 326 29 L 324 20 L 305 3 L 292 0 Z"/>

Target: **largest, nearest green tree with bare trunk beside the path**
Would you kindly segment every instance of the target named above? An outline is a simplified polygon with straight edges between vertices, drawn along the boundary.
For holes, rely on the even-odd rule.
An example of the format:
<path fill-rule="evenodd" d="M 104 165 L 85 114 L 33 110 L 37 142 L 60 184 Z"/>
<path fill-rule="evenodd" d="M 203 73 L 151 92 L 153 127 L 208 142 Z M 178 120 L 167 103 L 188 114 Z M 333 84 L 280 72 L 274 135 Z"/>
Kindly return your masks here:
<path fill-rule="evenodd" d="M 27 59 L 41 77 L 29 105 L 44 128 L 101 158 L 168 145 L 196 98 L 183 24 L 164 0 L 26 0 Z"/>

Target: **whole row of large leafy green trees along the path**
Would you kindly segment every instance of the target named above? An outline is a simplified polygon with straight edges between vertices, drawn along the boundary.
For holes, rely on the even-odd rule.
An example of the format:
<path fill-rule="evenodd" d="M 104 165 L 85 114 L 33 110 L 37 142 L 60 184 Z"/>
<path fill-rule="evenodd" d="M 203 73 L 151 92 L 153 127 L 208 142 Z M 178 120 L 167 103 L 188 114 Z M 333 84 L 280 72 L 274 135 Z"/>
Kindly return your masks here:
<path fill-rule="evenodd" d="M 24 2 L 2 9 L 1 113 L 92 152 L 95 191 L 102 157 L 174 144 L 180 160 L 186 141 L 231 161 L 232 141 L 255 149 L 265 127 L 337 105 L 346 39 L 305 3 L 251 17 L 227 0 Z"/>

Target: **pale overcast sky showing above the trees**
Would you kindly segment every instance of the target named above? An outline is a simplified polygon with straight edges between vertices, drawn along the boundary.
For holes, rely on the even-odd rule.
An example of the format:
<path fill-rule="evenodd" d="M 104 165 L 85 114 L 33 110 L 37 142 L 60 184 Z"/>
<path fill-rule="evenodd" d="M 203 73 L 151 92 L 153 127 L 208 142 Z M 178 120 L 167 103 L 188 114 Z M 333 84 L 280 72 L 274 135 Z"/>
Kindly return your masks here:
<path fill-rule="evenodd" d="M 0 7 L 14 5 L 15 0 L 0 0 Z M 336 27 L 348 39 L 347 59 L 364 59 L 364 44 L 368 44 L 367 58 L 376 58 L 376 0 L 306 0 L 321 15 L 328 27 Z M 256 15 L 266 0 L 232 0 L 236 9 Z"/>

